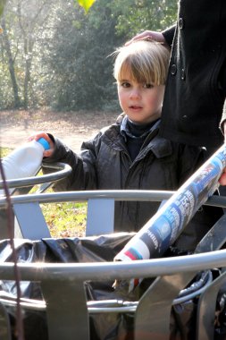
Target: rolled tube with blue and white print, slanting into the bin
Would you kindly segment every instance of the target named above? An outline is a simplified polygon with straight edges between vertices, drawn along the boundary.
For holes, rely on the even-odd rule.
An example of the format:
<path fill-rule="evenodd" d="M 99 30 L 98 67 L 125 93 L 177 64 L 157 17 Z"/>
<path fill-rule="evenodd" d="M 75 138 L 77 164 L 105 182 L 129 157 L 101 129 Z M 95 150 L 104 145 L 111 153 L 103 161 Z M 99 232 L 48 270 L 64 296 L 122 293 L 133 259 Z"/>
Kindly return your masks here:
<path fill-rule="evenodd" d="M 128 261 L 160 257 L 177 239 L 213 192 L 226 166 L 226 144 L 218 149 L 195 174 L 193 174 L 154 217 L 144 225 L 114 260 Z"/>

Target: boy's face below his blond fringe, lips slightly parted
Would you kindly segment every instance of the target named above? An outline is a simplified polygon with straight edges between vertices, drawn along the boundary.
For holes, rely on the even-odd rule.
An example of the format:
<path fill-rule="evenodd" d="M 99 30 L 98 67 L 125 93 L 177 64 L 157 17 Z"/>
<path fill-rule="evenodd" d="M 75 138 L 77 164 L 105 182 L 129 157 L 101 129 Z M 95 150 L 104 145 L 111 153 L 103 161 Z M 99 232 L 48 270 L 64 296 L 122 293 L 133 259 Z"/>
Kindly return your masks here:
<path fill-rule="evenodd" d="M 151 123 L 161 115 L 163 85 L 140 84 L 134 81 L 130 72 L 125 72 L 118 81 L 118 95 L 123 112 L 134 123 Z"/>

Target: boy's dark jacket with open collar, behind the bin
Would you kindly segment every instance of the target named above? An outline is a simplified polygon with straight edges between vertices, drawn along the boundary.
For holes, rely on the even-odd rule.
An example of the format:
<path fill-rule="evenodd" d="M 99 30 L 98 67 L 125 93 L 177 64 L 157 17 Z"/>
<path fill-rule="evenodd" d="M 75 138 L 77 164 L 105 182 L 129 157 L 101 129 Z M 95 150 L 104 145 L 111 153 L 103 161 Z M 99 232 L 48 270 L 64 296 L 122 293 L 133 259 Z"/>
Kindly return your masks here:
<path fill-rule="evenodd" d="M 79 155 L 55 138 L 54 155 L 45 161 L 67 163 L 72 174 L 56 183 L 54 190 L 177 190 L 203 160 L 203 150 L 165 140 L 158 131 L 159 125 L 155 124 L 134 161 L 121 135 L 121 122 L 84 142 Z M 114 230 L 138 231 L 158 207 L 157 202 L 116 202 Z M 180 237 L 180 249 L 193 249 L 197 239 L 220 217 L 218 209 L 216 214 L 211 208 L 208 211 L 210 213 L 198 213 L 198 223 L 191 224 L 188 232 Z"/>

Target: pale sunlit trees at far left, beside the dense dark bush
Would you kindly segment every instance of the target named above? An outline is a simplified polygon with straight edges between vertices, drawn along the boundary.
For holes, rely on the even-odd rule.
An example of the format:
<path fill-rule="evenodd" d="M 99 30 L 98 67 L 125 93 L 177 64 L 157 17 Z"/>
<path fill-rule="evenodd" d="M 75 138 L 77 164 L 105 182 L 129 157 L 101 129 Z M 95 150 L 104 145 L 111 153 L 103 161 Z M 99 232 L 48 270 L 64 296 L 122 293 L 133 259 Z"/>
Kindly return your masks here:
<path fill-rule="evenodd" d="M 54 0 L 53 0 L 54 1 Z M 52 0 L 8 0 L 1 20 L 1 106 L 28 108 L 35 102 L 33 86 L 38 65 L 38 43 Z M 34 67 L 34 64 L 36 66 Z M 7 73 L 2 73 L 8 69 Z M 6 85 L 11 83 L 9 89 Z"/>

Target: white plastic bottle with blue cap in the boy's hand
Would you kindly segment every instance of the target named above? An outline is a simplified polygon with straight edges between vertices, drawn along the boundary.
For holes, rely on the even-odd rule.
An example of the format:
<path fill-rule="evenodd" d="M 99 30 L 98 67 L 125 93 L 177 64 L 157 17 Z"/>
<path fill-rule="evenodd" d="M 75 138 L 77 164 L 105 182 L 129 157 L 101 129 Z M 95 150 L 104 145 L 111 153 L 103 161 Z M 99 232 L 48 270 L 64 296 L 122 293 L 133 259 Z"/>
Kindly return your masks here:
<path fill-rule="evenodd" d="M 20 148 L 14 149 L 11 154 L 2 159 L 6 179 L 19 179 L 37 174 L 46 149 L 49 149 L 49 143 L 44 138 L 31 140 Z M 2 181 L 1 174 L 0 181 Z M 13 189 L 11 188 L 10 191 Z M 2 194 L 4 190 L 0 189 L 0 195 Z"/>

